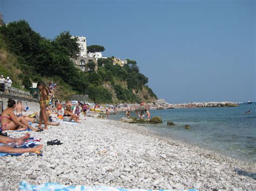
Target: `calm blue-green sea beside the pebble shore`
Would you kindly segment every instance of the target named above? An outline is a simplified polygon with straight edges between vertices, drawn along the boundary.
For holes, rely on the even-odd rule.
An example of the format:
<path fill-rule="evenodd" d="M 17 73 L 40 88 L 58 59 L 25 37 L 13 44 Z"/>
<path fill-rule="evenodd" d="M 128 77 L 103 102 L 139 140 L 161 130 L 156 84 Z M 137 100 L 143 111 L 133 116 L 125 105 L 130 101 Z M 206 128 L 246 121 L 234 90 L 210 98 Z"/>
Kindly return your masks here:
<path fill-rule="evenodd" d="M 250 114 L 246 114 L 248 110 Z M 158 136 L 256 164 L 256 102 L 225 108 L 150 110 L 150 114 L 151 117 L 160 116 L 163 124 L 143 125 Z M 137 117 L 134 111 L 131 116 Z M 110 115 L 109 119 L 120 120 L 121 117 L 125 117 L 124 112 Z M 176 125 L 167 126 L 167 121 Z M 185 129 L 184 125 L 190 125 L 191 129 Z"/>

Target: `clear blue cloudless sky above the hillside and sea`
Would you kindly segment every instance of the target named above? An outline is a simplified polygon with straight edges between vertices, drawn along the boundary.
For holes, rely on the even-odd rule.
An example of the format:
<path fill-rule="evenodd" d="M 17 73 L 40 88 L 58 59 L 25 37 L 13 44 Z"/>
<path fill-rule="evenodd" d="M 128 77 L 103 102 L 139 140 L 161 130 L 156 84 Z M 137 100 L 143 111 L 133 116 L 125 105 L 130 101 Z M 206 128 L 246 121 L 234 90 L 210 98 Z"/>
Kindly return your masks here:
<path fill-rule="evenodd" d="M 169 103 L 256 101 L 256 3 L 250 0 L 0 0 L 4 22 L 63 31 L 136 60 Z"/>

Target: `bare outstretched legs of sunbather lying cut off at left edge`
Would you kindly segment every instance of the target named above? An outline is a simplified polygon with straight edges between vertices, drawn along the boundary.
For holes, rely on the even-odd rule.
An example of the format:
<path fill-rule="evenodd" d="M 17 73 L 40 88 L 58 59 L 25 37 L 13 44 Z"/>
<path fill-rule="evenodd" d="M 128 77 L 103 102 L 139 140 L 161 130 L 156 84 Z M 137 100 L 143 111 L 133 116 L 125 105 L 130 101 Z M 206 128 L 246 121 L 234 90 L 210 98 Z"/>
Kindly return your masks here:
<path fill-rule="evenodd" d="M 30 137 L 29 133 L 20 138 L 10 138 L 0 136 L 0 153 L 36 153 L 43 148 L 43 145 L 38 145 L 33 148 L 14 148 L 14 146 L 20 146 L 26 142 Z"/>

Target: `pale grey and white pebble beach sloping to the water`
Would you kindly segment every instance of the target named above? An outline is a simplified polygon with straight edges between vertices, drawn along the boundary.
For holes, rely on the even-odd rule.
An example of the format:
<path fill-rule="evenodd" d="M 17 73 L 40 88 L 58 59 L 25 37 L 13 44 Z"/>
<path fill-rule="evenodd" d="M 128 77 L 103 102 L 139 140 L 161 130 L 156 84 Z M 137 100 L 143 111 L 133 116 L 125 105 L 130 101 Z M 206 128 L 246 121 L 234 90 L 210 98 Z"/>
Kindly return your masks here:
<path fill-rule="evenodd" d="M 28 114 L 39 111 L 38 103 L 28 102 L 28 107 Z M 18 190 L 22 180 L 32 185 L 58 182 L 129 189 L 256 189 L 253 164 L 159 137 L 137 124 L 81 119 L 79 124 L 30 132 L 42 138 L 43 156 L 2 157 L 0 189 Z M 26 133 L 6 132 L 10 137 Z M 46 144 L 54 139 L 63 144 Z"/>

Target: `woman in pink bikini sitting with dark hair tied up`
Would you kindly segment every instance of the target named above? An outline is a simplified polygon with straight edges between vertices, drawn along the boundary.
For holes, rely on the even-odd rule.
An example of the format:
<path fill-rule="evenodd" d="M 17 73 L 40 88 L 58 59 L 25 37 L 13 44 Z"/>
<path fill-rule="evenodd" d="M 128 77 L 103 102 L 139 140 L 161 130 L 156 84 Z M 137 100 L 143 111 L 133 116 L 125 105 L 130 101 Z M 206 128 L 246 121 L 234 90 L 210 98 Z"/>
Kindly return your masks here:
<path fill-rule="evenodd" d="M 27 128 L 29 128 L 33 131 L 39 131 L 38 129 L 33 128 L 31 125 L 29 125 L 25 117 L 16 117 L 13 111 L 15 107 L 16 102 L 10 98 L 8 100 L 8 108 L 6 108 L 2 114 L 2 130 L 26 130 Z"/>

